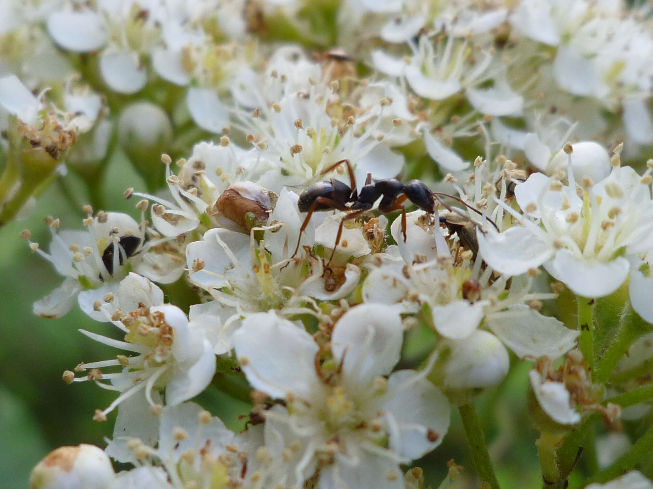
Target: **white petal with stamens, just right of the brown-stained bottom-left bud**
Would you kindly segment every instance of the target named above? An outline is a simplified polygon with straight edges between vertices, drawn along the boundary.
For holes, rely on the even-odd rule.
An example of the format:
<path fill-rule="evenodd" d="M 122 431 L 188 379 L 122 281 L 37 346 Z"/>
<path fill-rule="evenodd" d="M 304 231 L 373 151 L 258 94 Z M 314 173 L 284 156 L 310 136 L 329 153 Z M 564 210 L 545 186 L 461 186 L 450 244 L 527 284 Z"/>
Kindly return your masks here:
<path fill-rule="evenodd" d="M 159 450 L 170 456 L 174 463 L 178 462 L 184 452 L 197 450 L 213 454 L 215 458 L 234 440 L 234 434 L 225 427 L 219 417 L 212 417 L 208 424 L 200 424 L 199 416 L 204 411 L 195 402 L 184 402 L 177 406 L 166 406 L 161 412 L 161 439 Z M 175 432 L 181 428 L 189 436 L 185 439 L 175 437 Z"/>

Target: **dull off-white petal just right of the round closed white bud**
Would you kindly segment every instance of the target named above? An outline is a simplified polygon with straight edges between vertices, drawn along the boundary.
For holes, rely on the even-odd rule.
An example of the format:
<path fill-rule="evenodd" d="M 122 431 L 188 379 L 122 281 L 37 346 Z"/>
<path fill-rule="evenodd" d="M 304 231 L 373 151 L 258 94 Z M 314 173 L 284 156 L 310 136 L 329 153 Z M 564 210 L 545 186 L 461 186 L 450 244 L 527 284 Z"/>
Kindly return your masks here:
<path fill-rule="evenodd" d="M 488 318 L 486 324 L 518 357 L 547 356 L 552 360 L 575 346 L 578 331 L 556 318 L 547 318 L 524 304 Z"/>

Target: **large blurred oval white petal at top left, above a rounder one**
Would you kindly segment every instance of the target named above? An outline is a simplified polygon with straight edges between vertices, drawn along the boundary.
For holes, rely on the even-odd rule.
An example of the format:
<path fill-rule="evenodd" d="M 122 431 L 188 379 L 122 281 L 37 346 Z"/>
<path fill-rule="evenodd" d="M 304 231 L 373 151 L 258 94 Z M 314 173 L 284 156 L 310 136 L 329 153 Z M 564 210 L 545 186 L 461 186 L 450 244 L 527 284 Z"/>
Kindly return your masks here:
<path fill-rule="evenodd" d="M 87 53 L 106 42 L 101 16 L 96 12 L 54 12 L 48 18 L 48 32 L 65 50 Z"/>

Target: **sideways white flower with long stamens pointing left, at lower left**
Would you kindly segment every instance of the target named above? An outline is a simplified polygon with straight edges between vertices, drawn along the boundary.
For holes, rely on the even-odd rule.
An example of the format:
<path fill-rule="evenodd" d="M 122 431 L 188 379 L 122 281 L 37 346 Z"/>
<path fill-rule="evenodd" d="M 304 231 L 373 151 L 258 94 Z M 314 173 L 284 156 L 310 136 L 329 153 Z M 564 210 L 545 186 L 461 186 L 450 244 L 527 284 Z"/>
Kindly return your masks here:
<path fill-rule="evenodd" d="M 90 369 L 89 374 L 74 378 L 74 381 L 108 379 L 112 382 L 108 388 L 119 391 L 120 395 L 108 408 L 96 413 L 97 419 L 104 419 L 118 404 L 140 391 L 144 391 L 148 403 L 154 406 L 157 403 L 152 397 L 153 390 L 165 388 L 166 402 L 174 406 L 196 396 L 210 383 L 215 372 L 215 356 L 204 332 L 191 327 L 180 308 L 162 303 L 161 289 L 132 274 L 118 289 L 117 305 L 121 309 L 110 315 L 114 325 L 125 333 L 125 341 L 80 330 L 93 340 L 138 354 L 84 364 L 84 370 Z M 107 306 L 96 306 L 108 314 Z M 110 374 L 99 371 L 107 366 L 121 366 L 123 370 Z"/>

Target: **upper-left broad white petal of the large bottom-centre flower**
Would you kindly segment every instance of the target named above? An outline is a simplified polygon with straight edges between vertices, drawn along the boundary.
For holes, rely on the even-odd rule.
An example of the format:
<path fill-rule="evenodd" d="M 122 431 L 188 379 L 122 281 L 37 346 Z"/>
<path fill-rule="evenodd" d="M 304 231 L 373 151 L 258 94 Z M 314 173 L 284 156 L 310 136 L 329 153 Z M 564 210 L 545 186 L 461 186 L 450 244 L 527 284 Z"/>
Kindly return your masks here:
<path fill-rule="evenodd" d="M 274 311 L 251 314 L 234 333 L 234 348 L 247 380 L 273 398 L 291 391 L 304 400 L 319 388 L 313 337 Z"/>

